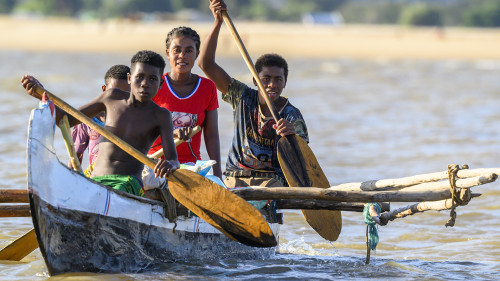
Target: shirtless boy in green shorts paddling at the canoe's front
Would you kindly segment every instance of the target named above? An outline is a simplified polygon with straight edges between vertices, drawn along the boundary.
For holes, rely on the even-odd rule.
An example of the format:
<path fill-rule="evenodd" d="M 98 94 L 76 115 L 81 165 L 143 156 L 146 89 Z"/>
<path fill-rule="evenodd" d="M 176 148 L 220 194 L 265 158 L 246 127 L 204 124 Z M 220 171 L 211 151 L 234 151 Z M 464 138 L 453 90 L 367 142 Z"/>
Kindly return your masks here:
<path fill-rule="evenodd" d="M 165 159 L 160 159 L 155 175 L 166 177 L 179 168 L 173 141 L 170 112 L 156 105 L 152 98 L 158 92 L 165 61 L 152 51 L 139 51 L 132 57 L 128 75 L 130 93 L 111 88 L 97 96 L 79 110 L 94 117 L 106 112 L 105 128 L 132 147 L 146 153 L 158 136 L 161 136 Z M 40 99 L 34 89 L 41 86 L 38 80 L 25 75 L 21 80 L 28 94 Z M 56 113 L 56 121 L 64 112 Z M 70 117 L 71 126 L 79 124 Z M 95 161 L 92 177 L 105 185 L 134 195 L 144 196 L 140 181 L 143 164 L 106 139 L 99 144 L 99 157 Z"/>

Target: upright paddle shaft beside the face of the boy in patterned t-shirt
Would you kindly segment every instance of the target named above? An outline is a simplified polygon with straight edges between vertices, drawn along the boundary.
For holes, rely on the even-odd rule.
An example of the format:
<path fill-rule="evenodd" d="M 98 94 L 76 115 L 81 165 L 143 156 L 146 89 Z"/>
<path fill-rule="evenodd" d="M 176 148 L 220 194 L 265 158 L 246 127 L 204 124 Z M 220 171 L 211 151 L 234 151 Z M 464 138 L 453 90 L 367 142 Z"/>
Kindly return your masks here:
<path fill-rule="evenodd" d="M 231 32 L 231 35 L 233 36 L 234 41 L 236 42 L 236 45 L 238 46 L 238 50 L 240 51 L 241 55 L 243 56 L 243 59 L 245 60 L 245 63 L 248 66 L 248 69 L 250 69 L 250 72 L 252 72 L 253 78 L 255 81 L 257 81 L 257 87 L 259 87 L 259 92 L 262 97 L 266 100 L 267 107 L 269 107 L 269 110 L 271 111 L 271 114 L 273 115 L 273 118 L 276 122 L 280 120 L 281 118 L 279 117 L 278 110 L 276 109 L 276 106 L 274 106 L 274 103 L 271 101 L 269 96 L 266 93 L 266 89 L 264 88 L 264 85 L 262 84 L 262 81 L 260 81 L 259 74 L 257 73 L 257 70 L 255 70 L 255 67 L 253 66 L 252 59 L 250 58 L 250 55 L 248 54 L 247 49 L 245 48 L 245 45 L 243 45 L 243 41 L 241 40 L 240 35 L 238 34 L 238 31 L 236 31 L 236 28 L 234 27 L 233 21 L 227 14 L 227 11 L 222 11 L 222 19 L 224 19 L 224 22 L 226 23 L 227 27 L 229 28 L 229 31 Z"/>

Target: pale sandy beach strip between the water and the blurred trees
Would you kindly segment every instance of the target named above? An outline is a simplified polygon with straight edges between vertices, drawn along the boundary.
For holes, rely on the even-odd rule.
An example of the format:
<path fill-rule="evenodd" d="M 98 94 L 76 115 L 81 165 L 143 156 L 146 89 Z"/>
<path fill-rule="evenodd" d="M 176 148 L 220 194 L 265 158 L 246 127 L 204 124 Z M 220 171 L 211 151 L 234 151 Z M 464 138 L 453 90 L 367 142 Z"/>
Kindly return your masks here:
<path fill-rule="evenodd" d="M 165 51 L 165 36 L 187 25 L 202 40 L 212 22 L 80 22 L 72 19 L 0 17 L 1 50 L 111 52 Z M 402 26 L 319 26 L 299 23 L 234 22 L 252 57 L 276 52 L 285 57 L 360 59 L 500 59 L 500 29 L 409 28 Z M 227 28 L 219 56 L 239 56 Z"/>

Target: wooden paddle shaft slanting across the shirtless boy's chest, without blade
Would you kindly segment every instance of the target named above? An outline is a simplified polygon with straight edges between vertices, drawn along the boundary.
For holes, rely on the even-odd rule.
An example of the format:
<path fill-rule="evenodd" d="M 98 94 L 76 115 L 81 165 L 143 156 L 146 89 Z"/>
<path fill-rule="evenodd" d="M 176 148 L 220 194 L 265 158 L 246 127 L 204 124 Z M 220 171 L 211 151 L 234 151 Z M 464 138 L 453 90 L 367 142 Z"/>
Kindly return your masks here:
<path fill-rule="evenodd" d="M 58 98 L 56 95 L 52 94 L 51 92 L 45 90 L 44 88 L 37 86 L 35 88 L 35 91 L 43 95 L 44 92 L 49 95 L 49 98 L 54 102 L 54 104 L 59 107 L 60 109 L 66 111 L 67 113 L 71 114 L 74 118 L 78 119 L 80 122 L 85 123 L 88 125 L 90 128 L 94 129 L 96 132 L 107 138 L 109 141 L 112 143 L 116 144 L 119 148 L 123 149 L 125 152 L 128 154 L 132 155 L 134 158 L 139 160 L 141 163 L 144 165 L 147 165 L 151 169 L 154 169 L 156 163 L 146 157 L 143 153 L 141 153 L 139 150 L 133 148 L 130 146 L 128 143 L 124 142 L 122 139 L 117 137 L 115 134 L 111 133 L 110 131 L 106 130 L 104 127 L 98 125 L 92 119 L 87 117 L 85 114 L 81 113 L 80 111 L 76 110 L 74 107 L 71 105 L 67 104 L 65 101 L 62 99 Z"/>

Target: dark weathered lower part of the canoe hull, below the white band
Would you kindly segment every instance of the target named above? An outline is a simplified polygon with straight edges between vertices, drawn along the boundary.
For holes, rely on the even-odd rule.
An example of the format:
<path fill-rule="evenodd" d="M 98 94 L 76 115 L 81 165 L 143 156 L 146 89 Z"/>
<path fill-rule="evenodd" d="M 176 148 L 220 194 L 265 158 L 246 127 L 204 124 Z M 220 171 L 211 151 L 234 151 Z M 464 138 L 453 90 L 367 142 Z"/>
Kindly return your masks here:
<path fill-rule="evenodd" d="M 133 220 L 55 208 L 37 196 L 32 196 L 32 206 L 51 275 L 140 272 L 176 260 L 263 259 L 274 254 L 273 248 L 251 248 L 220 233 L 173 232 Z"/>

